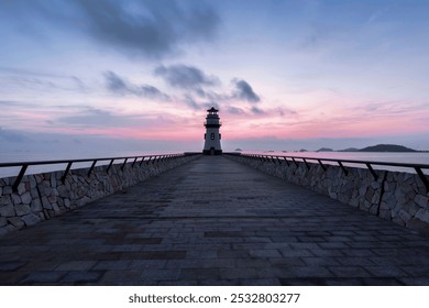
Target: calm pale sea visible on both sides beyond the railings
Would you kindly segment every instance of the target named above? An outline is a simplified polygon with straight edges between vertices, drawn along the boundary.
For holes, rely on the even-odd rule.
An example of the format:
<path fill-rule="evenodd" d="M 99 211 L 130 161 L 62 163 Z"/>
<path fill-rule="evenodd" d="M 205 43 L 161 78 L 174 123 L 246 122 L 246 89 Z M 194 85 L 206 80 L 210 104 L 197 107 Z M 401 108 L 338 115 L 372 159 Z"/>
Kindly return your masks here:
<path fill-rule="evenodd" d="M 193 152 L 193 151 L 190 151 Z M 233 152 L 233 151 L 231 151 Z M 1 167 L 2 163 L 24 163 L 24 162 L 41 162 L 41 161 L 61 161 L 61 160 L 86 160 L 86 158 L 106 158 L 106 157 L 128 157 L 128 156 L 143 156 L 143 155 L 162 155 L 162 154 L 177 154 L 180 152 L 173 151 L 118 151 L 118 152 L 87 152 L 79 154 L 72 153 L 30 153 L 30 152 L 0 152 L 0 178 L 16 176 L 21 167 Z M 309 158 L 329 158 L 329 160 L 350 160 L 350 161 L 367 161 L 367 162 L 383 162 L 383 163 L 400 163 L 400 164 L 420 164 L 426 165 L 422 168 L 425 174 L 429 175 L 429 153 L 428 152 L 407 152 L 407 153 L 391 153 L 391 152 L 275 152 L 275 151 L 242 151 L 242 154 L 258 154 L 258 155 L 272 155 L 272 156 L 287 156 L 287 157 L 306 157 Z M 297 158 L 299 161 L 299 158 Z M 121 163 L 123 160 L 118 160 L 114 163 Z M 100 161 L 99 165 L 109 164 L 110 161 Z M 323 162 L 323 164 L 333 164 L 334 162 Z M 88 163 L 76 163 L 73 168 L 89 167 Z M 344 163 L 344 166 L 362 167 L 366 168 L 364 164 Z M 37 165 L 30 166 L 25 174 L 37 174 L 44 172 L 64 170 L 67 164 L 55 165 Z M 387 169 L 395 172 L 416 173 L 410 167 L 396 167 L 396 166 L 381 166 L 373 165 L 374 169 Z"/>

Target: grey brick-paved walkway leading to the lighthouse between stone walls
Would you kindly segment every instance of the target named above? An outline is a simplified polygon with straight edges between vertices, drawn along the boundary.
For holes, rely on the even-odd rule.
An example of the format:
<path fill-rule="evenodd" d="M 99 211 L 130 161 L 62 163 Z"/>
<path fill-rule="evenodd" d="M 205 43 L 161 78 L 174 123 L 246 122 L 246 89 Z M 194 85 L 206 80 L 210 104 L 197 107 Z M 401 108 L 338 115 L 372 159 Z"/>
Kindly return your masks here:
<path fill-rule="evenodd" d="M 429 285 L 428 240 L 205 156 L 0 239 L 0 284 Z"/>

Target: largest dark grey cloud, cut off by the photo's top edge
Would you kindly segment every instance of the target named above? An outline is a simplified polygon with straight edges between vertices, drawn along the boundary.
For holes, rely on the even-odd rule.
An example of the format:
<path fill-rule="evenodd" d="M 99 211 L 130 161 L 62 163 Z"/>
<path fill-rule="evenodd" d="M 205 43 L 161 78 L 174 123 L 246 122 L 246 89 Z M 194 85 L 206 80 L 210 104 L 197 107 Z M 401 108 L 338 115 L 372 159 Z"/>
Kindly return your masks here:
<path fill-rule="evenodd" d="M 97 41 L 132 54 L 161 58 L 183 43 L 213 37 L 220 18 L 211 7 L 187 7 L 183 1 L 78 0 L 82 21 Z M 193 2 L 193 4 L 195 4 Z"/>

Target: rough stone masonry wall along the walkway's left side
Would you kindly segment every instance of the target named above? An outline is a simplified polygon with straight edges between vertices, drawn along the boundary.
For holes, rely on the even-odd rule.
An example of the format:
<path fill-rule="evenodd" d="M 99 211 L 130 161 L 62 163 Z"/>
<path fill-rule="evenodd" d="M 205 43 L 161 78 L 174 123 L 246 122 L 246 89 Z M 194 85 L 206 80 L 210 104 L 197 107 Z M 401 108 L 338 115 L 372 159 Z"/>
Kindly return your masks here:
<path fill-rule="evenodd" d="M 101 197 L 121 191 L 127 187 L 179 166 L 199 155 L 152 161 L 134 166 L 132 163 L 97 166 L 88 176 L 89 168 L 70 169 L 65 182 L 61 172 L 25 175 L 12 191 L 15 177 L 0 178 L 0 237 L 33 226 L 42 220 L 81 207 Z"/>

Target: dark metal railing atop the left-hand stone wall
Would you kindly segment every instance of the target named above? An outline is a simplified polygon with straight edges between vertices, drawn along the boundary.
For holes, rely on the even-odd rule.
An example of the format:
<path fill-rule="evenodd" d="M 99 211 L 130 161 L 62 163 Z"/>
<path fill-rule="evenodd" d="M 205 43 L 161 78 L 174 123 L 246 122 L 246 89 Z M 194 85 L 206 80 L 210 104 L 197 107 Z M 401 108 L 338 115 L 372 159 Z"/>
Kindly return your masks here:
<path fill-rule="evenodd" d="M 76 163 L 91 163 L 88 176 L 91 175 L 94 168 L 96 167 L 96 164 L 99 162 L 108 162 L 105 165 L 108 165 L 106 172 L 109 173 L 110 168 L 113 165 L 114 161 L 123 161 L 121 170 L 125 167 L 127 163 L 131 163 L 131 167 L 134 167 L 135 165 L 142 166 L 143 164 L 155 164 L 163 161 L 174 160 L 177 157 L 184 157 L 188 155 L 196 155 L 197 153 L 180 153 L 180 154 L 162 154 L 162 155 L 139 155 L 139 156 L 119 156 L 119 157 L 102 157 L 102 158 L 82 158 L 82 160 L 61 160 L 61 161 L 37 161 L 37 162 L 16 162 L 16 163 L 0 163 L 0 168 L 4 167 L 21 167 L 18 176 L 14 179 L 14 183 L 12 185 L 12 190 L 14 193 L 18 191 L 18 186 L 21 184 L 22 178 L 25 175 L 26 169 L 29 166 L 47 166 L 47 165 L 58 165 L 58 164 L 67 164 L 67 167 L 64 170 L 64 174 L 62 176 L 62 182 L 64 183 L 73 164 Z"/>

